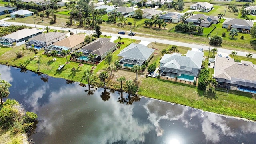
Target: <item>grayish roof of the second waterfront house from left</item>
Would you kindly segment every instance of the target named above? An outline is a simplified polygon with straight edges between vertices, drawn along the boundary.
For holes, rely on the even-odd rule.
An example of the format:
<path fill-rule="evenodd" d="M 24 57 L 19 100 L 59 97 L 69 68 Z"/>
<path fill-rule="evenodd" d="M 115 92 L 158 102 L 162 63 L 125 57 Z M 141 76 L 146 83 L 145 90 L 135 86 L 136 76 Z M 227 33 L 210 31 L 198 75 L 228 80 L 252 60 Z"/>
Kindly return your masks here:
<path fill-rule="evenodd" d="M 30 38 L 29 40 L 38 40 L 38 41 L 42 41 L 42 42 L 49 42 L 49 41 L 54 40 L 55 38 L 58 38 L 63 35 L 65 35 L 65 33 L 61 33 L 61 32 L 42 33 L 37 36 L 34 36 L 33 38 Z"/>

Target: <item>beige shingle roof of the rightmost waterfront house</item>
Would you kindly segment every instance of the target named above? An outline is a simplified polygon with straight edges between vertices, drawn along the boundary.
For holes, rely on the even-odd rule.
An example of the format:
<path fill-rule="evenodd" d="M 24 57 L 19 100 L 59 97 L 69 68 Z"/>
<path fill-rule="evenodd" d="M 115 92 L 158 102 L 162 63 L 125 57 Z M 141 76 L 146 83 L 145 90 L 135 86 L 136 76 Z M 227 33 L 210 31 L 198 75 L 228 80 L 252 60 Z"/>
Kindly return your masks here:
<path fill-rule="evenodd" d="M 238 63 L 233 58 L 216 57 L 214 77 L 227 80 L 239 78 L 256 81 L 256 66 L 253 66 L 252 62 L 243 61 Z"/>

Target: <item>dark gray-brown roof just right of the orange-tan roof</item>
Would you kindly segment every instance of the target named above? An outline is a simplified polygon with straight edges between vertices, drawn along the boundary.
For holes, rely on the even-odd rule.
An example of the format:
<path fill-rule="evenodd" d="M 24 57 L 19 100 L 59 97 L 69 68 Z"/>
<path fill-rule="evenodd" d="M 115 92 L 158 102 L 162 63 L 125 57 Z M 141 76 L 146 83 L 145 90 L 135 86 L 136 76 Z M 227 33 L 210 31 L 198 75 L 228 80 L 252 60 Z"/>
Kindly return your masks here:
<path fill-rule="evenodd" d="M 99 38 L 80 49 L 88 50 L 91 54 L 101 56 L 116 45 L 116 43 L 110 42 L 109 38 Z"/>

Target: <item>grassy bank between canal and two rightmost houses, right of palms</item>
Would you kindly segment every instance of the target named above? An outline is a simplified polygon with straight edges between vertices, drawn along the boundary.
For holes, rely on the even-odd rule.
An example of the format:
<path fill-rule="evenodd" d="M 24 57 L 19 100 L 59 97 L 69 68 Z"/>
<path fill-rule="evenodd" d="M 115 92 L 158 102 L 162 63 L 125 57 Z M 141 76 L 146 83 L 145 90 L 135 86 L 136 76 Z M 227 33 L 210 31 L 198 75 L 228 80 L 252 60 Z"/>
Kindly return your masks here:
<path fill-rule="evenodd" d="M 206 98 L 193 86 L 156 78 L 145 78 L 138 94 L 158 100 L 191 106 L 204 111 L 256 120 L 256 100 L 247 93 L 216 91 L 218 98 Z M 234 93 L 234 94 L 232 94 Z M 238 93 L 238 94 L 237 94 Z"/>

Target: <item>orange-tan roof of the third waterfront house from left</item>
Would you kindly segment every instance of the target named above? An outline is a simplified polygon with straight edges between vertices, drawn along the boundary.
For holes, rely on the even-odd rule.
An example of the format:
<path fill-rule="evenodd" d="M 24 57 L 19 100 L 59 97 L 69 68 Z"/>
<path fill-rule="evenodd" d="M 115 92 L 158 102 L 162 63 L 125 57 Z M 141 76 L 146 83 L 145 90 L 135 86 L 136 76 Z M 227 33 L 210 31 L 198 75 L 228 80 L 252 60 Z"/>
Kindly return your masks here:
<path fill-rule="evenodd" d="M 66 46 L 69 48 L 73 48 L 74 46 L 77 46 L 82 42 L 84 42 L 84 34 L 80 34 L 80 35 L 73 34 L 72 36 L 69 36 L 67 38 L 64 38 L 63 40 L 55 42 L 53 45 Z"/>

